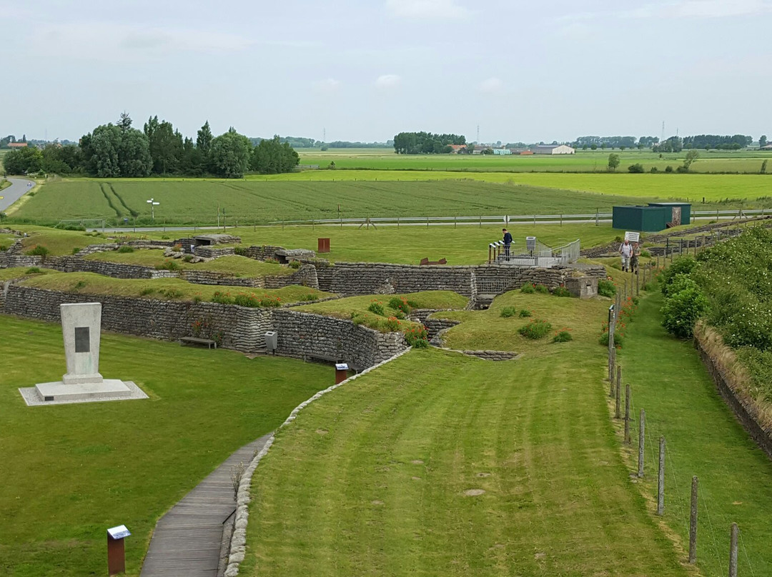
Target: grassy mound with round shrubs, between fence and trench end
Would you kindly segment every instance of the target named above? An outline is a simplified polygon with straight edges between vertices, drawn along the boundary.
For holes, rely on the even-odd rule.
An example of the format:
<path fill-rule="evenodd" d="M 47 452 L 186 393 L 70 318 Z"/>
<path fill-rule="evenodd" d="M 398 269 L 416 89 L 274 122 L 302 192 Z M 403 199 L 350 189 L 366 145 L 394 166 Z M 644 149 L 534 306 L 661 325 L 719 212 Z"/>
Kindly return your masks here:
<path fill-rule="evenodd" d="M 598 342 L 604 309 L 608 299 L 580 300 L 550 294 L 523 294 L 519 290 L 497 297 L 485 311 L 435 312 L 442 319 L 462 321 L 444 334 L 445 346 L 451 349 L 491 349 L 527 353 L 528 356 L 554 356 L 581 346 L 580 343 Z M 501 316 L 503 309 L 526 310 L 530 316 L 519 314 Z M 547 338 L 527 339 L 518 333 L 520 327 L 534 319 L 552 325 Z M 567 329 L 573 342 L 551 343 L 555 332 Z"/>

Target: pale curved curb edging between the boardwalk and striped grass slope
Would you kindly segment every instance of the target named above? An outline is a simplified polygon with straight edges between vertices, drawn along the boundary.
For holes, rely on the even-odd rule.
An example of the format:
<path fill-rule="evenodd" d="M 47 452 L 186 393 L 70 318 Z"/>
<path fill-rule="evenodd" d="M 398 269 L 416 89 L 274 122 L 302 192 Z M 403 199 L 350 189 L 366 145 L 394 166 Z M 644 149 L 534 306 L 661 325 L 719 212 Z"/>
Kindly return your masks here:
<path fill-rule="evenodd" d="M 338 383 L 337 385 L 329 386 L 325 390 L 320 390 L 319 393 L 316 393 L 314 396 L 312 396 L 310 399 L 303 401 L 303 403 L 300 403 L 295 409 L 293 409 L 292 413 L 289 413 L 289 417 L 286 418 L 286 420 L 279 425 L 279 429 L 282 427 L 286 427 L 289 423 L 292 423 L 293 420 L 297 417 L 297 414 L 300 413 L 300 410 L 305 408 L 310 403 L 313 403 L 313 401 L 320 399 L 322 396 L 326 395 L 327 393 L 330 393 L 334 390 L 336 390 L 339 386 L 344 386 L 346 383 L 350 383 L 350 381 L 357 379 L 358 377 L 362 375 L 366 375 L 373 369 L 378 369 L 379 366 L 383 366 L 386 363 L 391 363 L 394 359 L 398 359 L 405 353 L 408 353 L 412 347 L 408 347 L 407 349 L 397 353 L 394 356 L 391 356 L 390 358 L 381 361 L 381 363 L 378 363 L 377 365 L 373 365 L 371 367 L 368 367 L 367 369 L 364 369 L 361 373 L 357 373 L 354 376 L 349 377 L 347 380 L 344 380 L 342 383 Z M 265 457 L 266 454 L 268 454 L 268 450 L 271 448 L 271 445 L 273 445 L 273 441 L 276 439 L 276 434 L 271 434 L 271 437 L 266 441 L 266 444 L 262 449 L 254 456 L 252 457 L 252 462 L 249 463 L 249 467 L 247 467 L 244 471 L 244 474 L 242 475 L 241 481 L 239 483 L 239 491 L 236 494 L 236 514 L 235 514 L 235 525 L 233 528 L 233 535 L 231 538 L 231 546 L 229 550 L 228 555 L 228 566 L 225 569 L 225 577 L 235 577 L 235 575 L 239 575 L 239 567 L 244 561 L 245 554 L 246 554 L 246 526 L 247 522 L 249 520 L 249 501 L 252 500 L 252 498 L 249 495 L 249 488 L 252 484 L 252 474 L 254 474 L 255 469 L 257 468 L 258 464 L 262 460 L 262 457 Z"/>

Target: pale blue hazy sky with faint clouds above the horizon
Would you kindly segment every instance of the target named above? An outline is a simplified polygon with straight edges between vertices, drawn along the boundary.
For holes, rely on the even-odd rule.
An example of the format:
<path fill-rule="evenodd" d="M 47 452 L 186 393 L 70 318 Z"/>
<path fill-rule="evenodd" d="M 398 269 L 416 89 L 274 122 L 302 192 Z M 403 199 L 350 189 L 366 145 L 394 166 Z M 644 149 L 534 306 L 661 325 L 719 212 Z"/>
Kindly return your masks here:
<path fill-rule="evenodd" d="M 772 137 L 772 0 L 0 0 L 0 135 Z"/>

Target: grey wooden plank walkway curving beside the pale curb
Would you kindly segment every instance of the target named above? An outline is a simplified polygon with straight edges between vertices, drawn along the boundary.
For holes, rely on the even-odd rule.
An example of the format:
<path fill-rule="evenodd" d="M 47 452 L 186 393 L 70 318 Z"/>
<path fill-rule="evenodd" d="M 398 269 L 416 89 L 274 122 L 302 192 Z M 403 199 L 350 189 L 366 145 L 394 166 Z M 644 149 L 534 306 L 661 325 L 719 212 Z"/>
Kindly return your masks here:
<path fill-rule="evenodd" d="M 141 577 L 218 575 L 224 524 L 236 508 L 232 467 L 240 462 L 249 465 L 269 437 L 267 434 L 237 450 L 158 520 Z"/>

